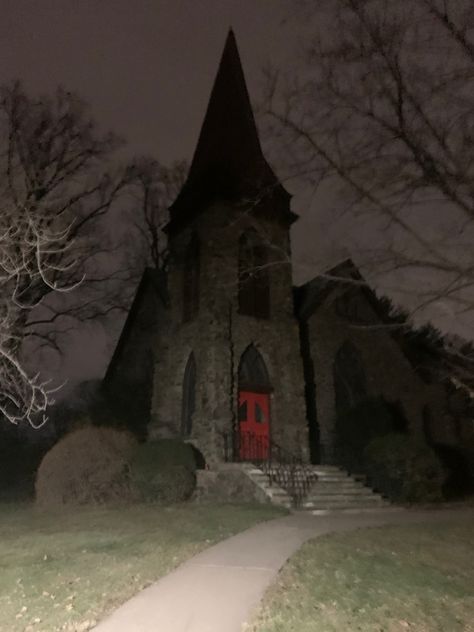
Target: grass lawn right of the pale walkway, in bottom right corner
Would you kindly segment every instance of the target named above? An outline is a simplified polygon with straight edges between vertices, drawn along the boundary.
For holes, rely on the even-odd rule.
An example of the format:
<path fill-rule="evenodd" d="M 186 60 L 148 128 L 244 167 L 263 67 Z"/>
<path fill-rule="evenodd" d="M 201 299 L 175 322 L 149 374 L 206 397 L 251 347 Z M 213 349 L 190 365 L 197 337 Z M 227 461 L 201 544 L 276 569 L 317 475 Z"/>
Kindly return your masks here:
<path fill-rule="evenodd" d="M 252 632 L 474 630 L 474 525 L 382 527 L 308 542 Z"/>

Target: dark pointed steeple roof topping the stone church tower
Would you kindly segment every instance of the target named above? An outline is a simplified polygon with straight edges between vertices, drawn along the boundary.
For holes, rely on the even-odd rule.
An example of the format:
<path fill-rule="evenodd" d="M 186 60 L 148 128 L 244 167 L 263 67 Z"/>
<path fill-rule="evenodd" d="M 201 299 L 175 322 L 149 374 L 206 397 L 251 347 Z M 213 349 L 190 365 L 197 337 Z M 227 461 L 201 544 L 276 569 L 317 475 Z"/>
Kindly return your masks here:
<path fill-rule="evenodd" d="M 188 178 L 170 208 L 168 231 L 214 200 L 272 200 L 289 211 L 289 194 L 265 160 L 237 43 L 229 31 Z M 276 210 L 276 209 L 275 209 Z"/>

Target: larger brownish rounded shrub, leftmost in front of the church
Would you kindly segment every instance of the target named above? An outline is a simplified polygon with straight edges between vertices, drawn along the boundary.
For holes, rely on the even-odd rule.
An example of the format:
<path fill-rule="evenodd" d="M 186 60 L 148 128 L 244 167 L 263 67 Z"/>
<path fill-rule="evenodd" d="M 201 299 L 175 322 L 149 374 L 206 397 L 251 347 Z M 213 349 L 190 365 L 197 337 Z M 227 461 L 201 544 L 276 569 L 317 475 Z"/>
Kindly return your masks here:
<path fill-rule="evenodd" d="M 35 483 L 41 505 L 102 503 L 130 497 L 131 434 L 92 426 L 63 437 L 45 455 Z"/>

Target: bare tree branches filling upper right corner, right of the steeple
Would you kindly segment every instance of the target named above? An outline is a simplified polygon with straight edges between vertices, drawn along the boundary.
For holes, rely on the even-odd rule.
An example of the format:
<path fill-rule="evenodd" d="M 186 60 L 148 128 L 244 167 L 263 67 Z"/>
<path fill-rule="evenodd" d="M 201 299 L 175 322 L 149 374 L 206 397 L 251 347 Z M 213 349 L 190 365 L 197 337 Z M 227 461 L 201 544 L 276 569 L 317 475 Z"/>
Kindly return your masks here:
<path fill-rule="evenodd" d="M 421 278 L 418 309 L 474 307 L 474 2 L 303 0 L 297 78 L 269 73 L 288 173 L 340 187 L 359 261 Z M 308 25 L 310 25 L 308 27 Z M 374 226 L 383 244 L 374 247 Z"/>

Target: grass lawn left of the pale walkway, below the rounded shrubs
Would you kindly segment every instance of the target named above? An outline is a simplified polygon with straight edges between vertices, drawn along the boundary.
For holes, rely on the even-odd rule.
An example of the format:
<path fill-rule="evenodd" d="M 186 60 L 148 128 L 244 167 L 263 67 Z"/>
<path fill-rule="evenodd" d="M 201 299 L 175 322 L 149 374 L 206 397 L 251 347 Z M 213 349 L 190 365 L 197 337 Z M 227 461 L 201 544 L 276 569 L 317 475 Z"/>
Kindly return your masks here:
<path fill-rule="evenodd" d="M 87 630 L 198 551 L 281 514 L 265 505 L 0 505 L 0 631 Z"/>

